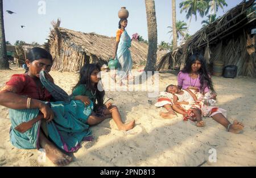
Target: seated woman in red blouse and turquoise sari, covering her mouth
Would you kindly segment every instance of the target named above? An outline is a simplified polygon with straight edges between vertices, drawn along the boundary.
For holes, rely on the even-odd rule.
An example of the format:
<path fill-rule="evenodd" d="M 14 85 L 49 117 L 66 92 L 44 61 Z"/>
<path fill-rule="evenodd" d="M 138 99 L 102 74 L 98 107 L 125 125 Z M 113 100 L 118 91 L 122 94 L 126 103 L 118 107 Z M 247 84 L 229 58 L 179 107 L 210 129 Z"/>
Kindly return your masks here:
<path fill-rule="evenodd" d="M 66 165 L 72 157 L 63 152 L 75 152 L 82 140 L 92 139 L 89 126 L 96 124 L 90 118 L 93 104 L 85 106 L 80 100 L 70 101 L 68 96 L 61 96 L 63 90 L 54 90 L 56 85 L 48 74 L 52 56 L 45 49 L 32 48 L 26 64 L 28 71 L 14 74 L 0 91 L 0 105 L 10 109 L 10 142 L 17 148 L 44 148 L 54 164 Z M 36 117 L 42 119 L 24 133 L 16 128 Z"/>

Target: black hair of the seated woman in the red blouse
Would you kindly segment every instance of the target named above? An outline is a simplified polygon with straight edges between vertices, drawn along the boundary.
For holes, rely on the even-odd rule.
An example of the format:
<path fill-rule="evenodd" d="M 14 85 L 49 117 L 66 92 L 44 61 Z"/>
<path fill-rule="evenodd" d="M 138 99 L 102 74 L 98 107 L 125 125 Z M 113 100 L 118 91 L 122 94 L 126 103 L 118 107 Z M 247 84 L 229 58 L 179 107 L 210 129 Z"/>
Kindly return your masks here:
<path fill-rule="evenodd" d="M 39 59 L 48 59 L 52 63 L 52 55 L 48 51 L 46 51 L 46 49 L 39 47 L 30 49 L 30 52 L 27 55 L 27 59 L 30 61 L 30 63 L 32 63 L 34 60 Z M 28 68 L 26 68 L 26 72 L 28 72 Z"/>

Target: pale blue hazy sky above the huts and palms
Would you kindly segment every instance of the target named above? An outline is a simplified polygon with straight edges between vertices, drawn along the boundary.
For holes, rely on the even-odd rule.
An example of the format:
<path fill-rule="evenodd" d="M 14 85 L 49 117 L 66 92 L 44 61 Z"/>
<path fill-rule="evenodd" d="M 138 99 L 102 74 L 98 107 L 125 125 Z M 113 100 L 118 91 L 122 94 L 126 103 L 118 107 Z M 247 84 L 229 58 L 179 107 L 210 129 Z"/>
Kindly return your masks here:
<path fill-rule="evenodd" d="M 176 19 L 184 20 L 185 12 L 180 13 L 179 3 L 176 0 Z M 217 16 L 223 15 L 242 0 L 226 0 L 228 6 L 219 9 Z M 170 43 L 171 34 L 168 33 L 172 26 L 172 1 L 155 0 L 156 23 L 158 30 L 158 43 Z M 138 33 L 147 40 L 147 19 L 144 0 L 3 0 L 3 19 L 5 25 L 6 41 L 14 44 L 16 40 L 26 43 L 47 42 L 51 22 L 61 19 L 60 27 L 81 32 L 96 32 L 100 35 L 115 36 L 118 29 L 118 11 L 125 6 L 129 11 L 126 31 L 131 36 Z M 44 8 L 45 7 L 45 8 Z M 9 14 L 11 10 L 16 14 Z M 192 19 L 188 33 L 195 34 L 202 27 L 201 18 Z M 25 26 L 21 28 L 20 26 Z"/>

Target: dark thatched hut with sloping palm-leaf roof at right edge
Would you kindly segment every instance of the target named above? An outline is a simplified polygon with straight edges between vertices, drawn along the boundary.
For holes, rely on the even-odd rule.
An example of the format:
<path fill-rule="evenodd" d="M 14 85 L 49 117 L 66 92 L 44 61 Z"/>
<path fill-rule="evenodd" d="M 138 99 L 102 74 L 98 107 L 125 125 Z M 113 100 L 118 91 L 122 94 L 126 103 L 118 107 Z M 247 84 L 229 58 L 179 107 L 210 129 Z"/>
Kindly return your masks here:
<path fill-rule="evenodd" d="M 255 74 L 255 1 L 242 1 L 215 22 L 201 28 L 183 45 L 164 55 L 156 65 L 158 70 L 170 69 L 185 61 L 195 51 L 204 54 L 209 67 L 213 61 L 222 61 L 224 65 L 236 65 L 237 75 Z"/>

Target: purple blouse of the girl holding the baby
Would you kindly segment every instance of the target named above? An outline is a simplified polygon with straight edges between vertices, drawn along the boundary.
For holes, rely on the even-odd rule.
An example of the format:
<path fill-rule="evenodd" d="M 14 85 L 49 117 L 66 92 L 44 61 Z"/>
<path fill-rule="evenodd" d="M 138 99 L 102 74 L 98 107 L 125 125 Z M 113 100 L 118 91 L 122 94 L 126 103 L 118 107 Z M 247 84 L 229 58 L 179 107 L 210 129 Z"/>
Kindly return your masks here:
<path fill-rule="evenodd" d="M 195 86 L 200 91 L 200 75 L 193 79 L 189 76 L 189 73 L 179 72 L 177 75 L 177 85 L 182 86 L 182 89 L 187 89 L 189 86 Z M 208 86 L 204 88 L 204 93 L 209 92 Z"/>

